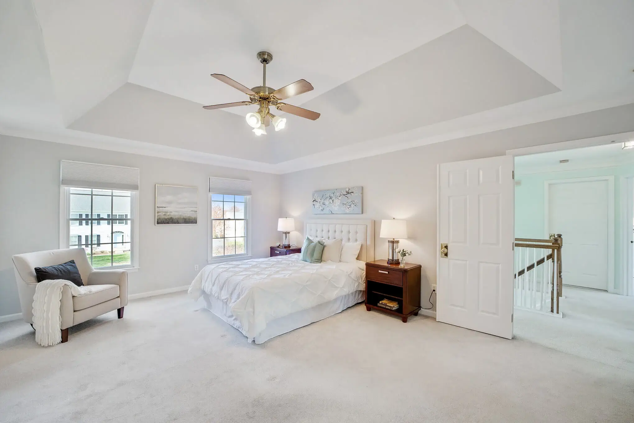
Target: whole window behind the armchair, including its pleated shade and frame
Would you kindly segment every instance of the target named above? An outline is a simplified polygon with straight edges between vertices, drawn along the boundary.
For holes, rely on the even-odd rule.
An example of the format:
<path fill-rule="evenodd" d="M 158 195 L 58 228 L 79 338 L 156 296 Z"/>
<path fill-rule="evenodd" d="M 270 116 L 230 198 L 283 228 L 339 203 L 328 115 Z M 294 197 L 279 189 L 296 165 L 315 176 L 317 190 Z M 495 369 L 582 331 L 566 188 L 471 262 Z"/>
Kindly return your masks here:
<path fill-rule="evenodd" d="M 138 267 L 137 190 L 138 169 L 62 160 L 60 247 L 93 268 Z"/>

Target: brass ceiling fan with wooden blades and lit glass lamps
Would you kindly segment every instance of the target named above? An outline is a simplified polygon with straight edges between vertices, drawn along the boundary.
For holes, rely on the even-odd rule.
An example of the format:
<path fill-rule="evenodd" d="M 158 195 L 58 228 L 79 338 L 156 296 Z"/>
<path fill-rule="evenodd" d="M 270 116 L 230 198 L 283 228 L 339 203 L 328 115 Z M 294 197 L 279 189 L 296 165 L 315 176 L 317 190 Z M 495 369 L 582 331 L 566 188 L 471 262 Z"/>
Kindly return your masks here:
<path fill-rule="evenodd" d="M 266 127 L 273 123 L 273 127 L 275 127 L 276 131 L 283 129 L 286 126 L 286 119 L 284 117 L 279 117 L 271 112 L 269 112 L 269 106 L 275 106 L 278 110 L 282 112 L 287 112 L 295 116 L 305 117 L 306 119 L 317 120 L 320 117 L 320 114 L 317 112 L 313 112 L 312 110 L 306 110 L 305 108 L 292 106 L 287 103 L 282 103 L 280 100 L 286 100 L 289 97 L 296 96 L 299 94 L 307 93 L 308 91 L 313 91 L 313 86 L 310 82 L 306 81 L 306 79 L 300 79 L 299 81 L 295 81 L 292 84 L 288 84 L 285 87 L 280 89 L 273 89 L 271 87 L 266 86 L 266 65 L 271 63 L 273 60 L 273 55 L 268 51 L 260 51 L 257 53 L 257 59 L 262 63 L 262 85 L 254 88 L 247 88 L 242 84 L 233 81 L 230 77 L 221 74 L 211 74 L 212 77 L 216 78 L 218 81 L 223 81 L 225 84 L 232 86 L 233 88 L 239 89 L 243 93 L 249 96 L 249 101 L 237 101 L 236 103 L 224 103 L 224 104 L 214 104 L 212 106 L 205 106 L 207 110 L 212 110 L 214 108 L 226 108 L 226 107 L 236 107 L 236 106 L 247 106 L 252 104 L 257 104 L 260 107 L 257 109 L 256 113 L 247 113 L 246 119 L 249 126 L 253 128 L 253 132 L 256 135 L 266 134 Z"/>

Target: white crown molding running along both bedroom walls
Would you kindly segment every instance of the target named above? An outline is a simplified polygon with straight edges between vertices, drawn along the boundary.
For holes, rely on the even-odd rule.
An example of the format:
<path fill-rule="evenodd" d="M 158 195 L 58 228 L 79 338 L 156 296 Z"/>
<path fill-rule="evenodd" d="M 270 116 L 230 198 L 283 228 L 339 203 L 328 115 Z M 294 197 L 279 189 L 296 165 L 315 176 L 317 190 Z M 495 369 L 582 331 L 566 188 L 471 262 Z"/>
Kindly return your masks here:
<path fill-rule="evenodd" d="M 560 119 L 562 117 L 593 112 L 604 108 L 618 107 L 634 102 L 634 96 L 630 93 L 619 98 L 607 100 L 579 102 L 572 106 L 553 108 L 552 110 L 535 112 L 533 114 L 513 114 L 507 119 L 495 119 L 496 110 L 488 110 L 474 115 L 439 122 L 438 124 L 391 134 L 373 140 L 361 141 L 352 145 L 332 148 L 323 152 L 309 154 L 297 159 L 287 160 L 276 164 L 257 162 L 255 160 L 238 159 L 212 153 L 197 152 L 184 148 L 147 143 L 145 141 L 127 140 L 101 134 L 86 133 L 67 128 L 40 128 L 26 129 L 20 127 L 0 127 L 0 134 L 17 136 L 20 138 L 32 138 L 35 140 L 51 141 L 54 143 L 99 148 L 122 153 L 132 153 L 160 157 L 163 159 L 181 160 L 185 162 L 210 164 L 214 166 L 231 167 L 247 171 L 266 172 L 272 174 L 286 174 L 291 172 L 313 169 L 315 167 L 328 166 L 363 159 L 375 155 L 406 150 L 417 146 L 456 140 L 466 136 L 485 134 L 501 129 L 508 129 L 547 120 Z M 482 124 L 481 122 L 486 122 Z M 456 129 L 457 128 L 457 129 Z M 597 141 L 592 141 L 597 143 Z M 597 144 L 593 144 L 597 145 Z M 569 147 L 574 148 L 574 147 Z M 509 150 L 508 153 L 519 155 L 521 150 Z M 521 151 L 526 154 L 529 152 Z"/>

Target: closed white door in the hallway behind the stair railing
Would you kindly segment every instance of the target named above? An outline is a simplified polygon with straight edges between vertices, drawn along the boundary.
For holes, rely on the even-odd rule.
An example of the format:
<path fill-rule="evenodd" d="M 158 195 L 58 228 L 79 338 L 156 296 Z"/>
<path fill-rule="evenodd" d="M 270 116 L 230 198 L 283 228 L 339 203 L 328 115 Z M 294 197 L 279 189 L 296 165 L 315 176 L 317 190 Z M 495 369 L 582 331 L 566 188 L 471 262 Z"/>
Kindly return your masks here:
<path fill-rule="evenodd" d="M 608 288 L 610 179 L 547 181 L 547 233 L 560 233 L 566 285 Z"/>

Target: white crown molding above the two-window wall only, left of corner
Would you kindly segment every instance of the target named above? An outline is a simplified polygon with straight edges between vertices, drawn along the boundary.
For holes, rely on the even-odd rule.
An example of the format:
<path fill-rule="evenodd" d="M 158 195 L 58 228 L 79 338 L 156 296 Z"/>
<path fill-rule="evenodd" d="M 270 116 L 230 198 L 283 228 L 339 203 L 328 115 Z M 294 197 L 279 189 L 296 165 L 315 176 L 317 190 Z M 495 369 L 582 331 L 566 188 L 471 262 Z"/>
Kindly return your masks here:
<path fill-rule="evenodd" d="M 247 171 L 274 174 L 279 173 L 275 164 L 197 152 L 193 150 L 186 150 L 185 148 L 146 143 L 144 141 L 126 140 L 124 138 L 116 138 L 113 136 L 75 131 L 74 129 L 48 129 L 45 131 L 34 131 L 16 127 L 0 127 L 0 134 L 20 138 L 32 138 L 34 140 L 41 141 L 50 141 L 53 143 L 99 148 L 100 150 L 160 157 L 162 159 L 231 167 Z"/>

